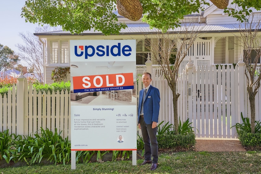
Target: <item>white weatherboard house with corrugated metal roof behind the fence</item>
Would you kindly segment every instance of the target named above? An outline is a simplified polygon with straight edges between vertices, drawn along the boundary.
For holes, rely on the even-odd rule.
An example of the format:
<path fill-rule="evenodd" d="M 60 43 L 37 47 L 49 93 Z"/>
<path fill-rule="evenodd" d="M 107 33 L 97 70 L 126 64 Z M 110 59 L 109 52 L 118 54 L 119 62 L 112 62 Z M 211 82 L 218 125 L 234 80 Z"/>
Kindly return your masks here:
<path fill-rule="evenodd" d="M 193 13 L 187 15 L 183 19 L 183 23 L 186 21 L 197 20 L 197 25 L 203 29 L 200 31 L 200 37 L 194 41 L 191 51 L 183 60 L 181 66 L 186 66 L 189 59 L 195 66 L 214 66 L 215 64 L 235 64 L 240 60 L 240 56 L 243 55 L 244 50 L 240 40 L 236 36 L 240 36 L 240 23 L 224 13 L 223 9 L 217 8 L 212 2 L 210 5 L 205 5 L 204 11 L 200 13 Z M 231 2 L 231 1 L 230 1 Z M 255 17 L 261 15 L 261 11 L 253 10 Z M 99 31 L 94 29 L 84 31 L 81 34 L 71 34 L 69 31 L 51 31 L 43 33 L 35 33 L 40 40 L 44 40 L 47 45 L 47 52 L 45 55 L 47 59 L 44 59 L 44 83 L 53 83 L 51 80 L 51 73 L 56 67 L 70 67 L 70 40 L 124 40 L 124 39 L 136 39 L 136 64 L 145 65 L 148 55 L 151 57 L 153 64 L 157 62 L 153 59 L 150 50 L 145 47 L 150 46 L 152 42 L 157 41 L 151 35 L 157 34 L 155 28 L 150 28 L 147 23 L 140 20 L 130 21 L 123 16 L 118 16 L 118 21 L 125 22 L 127 28 L 122 29 L 118 35 L 105 36 Z M 179 34 L 182 28 L 174 28 L 170 33 Z M 45 50 L 44 50 L 45 51 Z M 177 48 L 173 48 L 173 54 L 177 51 Z M 253 57 L 255 57 L 255 51 L 253 51 Z M 117 66 L 113 63 L 101 62 L 100 66 Z"/>

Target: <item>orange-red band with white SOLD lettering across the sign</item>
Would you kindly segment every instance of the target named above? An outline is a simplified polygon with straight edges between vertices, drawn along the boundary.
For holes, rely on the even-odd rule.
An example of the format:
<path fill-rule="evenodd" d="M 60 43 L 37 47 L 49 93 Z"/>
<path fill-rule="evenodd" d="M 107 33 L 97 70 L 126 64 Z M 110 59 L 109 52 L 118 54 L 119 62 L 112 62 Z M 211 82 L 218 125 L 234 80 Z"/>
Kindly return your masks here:
<path fill-rule="evenodd" d="M 76 76 L 72 78 L 74 90 L 133 86 L 133 73 Z"/>

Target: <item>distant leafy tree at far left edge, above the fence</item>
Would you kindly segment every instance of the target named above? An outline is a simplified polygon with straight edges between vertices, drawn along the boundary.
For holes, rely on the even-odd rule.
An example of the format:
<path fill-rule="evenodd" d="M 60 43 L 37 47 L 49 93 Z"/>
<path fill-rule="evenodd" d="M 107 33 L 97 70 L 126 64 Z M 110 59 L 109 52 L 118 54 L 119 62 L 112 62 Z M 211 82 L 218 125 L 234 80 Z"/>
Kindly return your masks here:
<path fill-rule="evenodd" d="M 0 71 L 10 70 L 18 61 L 18 55 L 11 48 L 0 44 Z"/>

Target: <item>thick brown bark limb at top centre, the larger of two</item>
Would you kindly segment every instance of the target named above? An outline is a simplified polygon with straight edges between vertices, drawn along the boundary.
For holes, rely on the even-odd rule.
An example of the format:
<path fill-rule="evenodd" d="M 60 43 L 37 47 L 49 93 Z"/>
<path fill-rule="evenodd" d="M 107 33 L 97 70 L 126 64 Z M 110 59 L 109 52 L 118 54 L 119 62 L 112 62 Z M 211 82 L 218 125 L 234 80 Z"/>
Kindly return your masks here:
<path fill-rule="evenodd" d="M 143 8 L 139 0 L 117 0 L 118 13 L 131 21 L 141 18 Z"/>

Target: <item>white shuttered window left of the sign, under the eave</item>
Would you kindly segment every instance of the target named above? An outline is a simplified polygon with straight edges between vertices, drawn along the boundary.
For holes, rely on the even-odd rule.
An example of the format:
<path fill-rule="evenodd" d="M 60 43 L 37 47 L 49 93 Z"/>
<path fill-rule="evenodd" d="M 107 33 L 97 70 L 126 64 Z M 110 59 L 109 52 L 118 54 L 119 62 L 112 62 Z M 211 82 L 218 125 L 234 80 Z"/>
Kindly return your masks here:
<path fill-rule="evenodd" d="M 49 65 L 69 65 L 69 43 L 68 40 L 50 41 Z"/>

